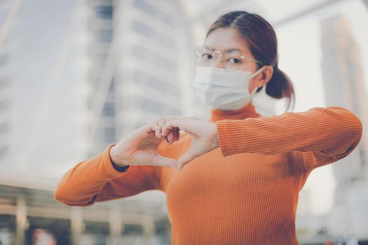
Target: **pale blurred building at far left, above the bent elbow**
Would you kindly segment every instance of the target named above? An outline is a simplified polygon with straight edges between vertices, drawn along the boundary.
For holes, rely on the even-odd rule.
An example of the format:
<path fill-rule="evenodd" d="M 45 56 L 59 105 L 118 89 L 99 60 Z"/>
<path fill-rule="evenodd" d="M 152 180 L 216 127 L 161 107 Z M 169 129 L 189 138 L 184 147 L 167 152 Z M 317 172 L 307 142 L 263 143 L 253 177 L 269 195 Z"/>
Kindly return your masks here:
<path fill-rule="evenodd" d="M 15 10 L 0 48 L 6 66 L 0 71 L 0 104 L 6 106 L 0 128 L 7 136 L 1 141 L 0 169 L 55 177 L 84 157 L 81 146 L 87 141 L 77 6 L 75 1 L 22 1 L 14 9 L 17 2 L 0 3 L 1 20 Z"/>

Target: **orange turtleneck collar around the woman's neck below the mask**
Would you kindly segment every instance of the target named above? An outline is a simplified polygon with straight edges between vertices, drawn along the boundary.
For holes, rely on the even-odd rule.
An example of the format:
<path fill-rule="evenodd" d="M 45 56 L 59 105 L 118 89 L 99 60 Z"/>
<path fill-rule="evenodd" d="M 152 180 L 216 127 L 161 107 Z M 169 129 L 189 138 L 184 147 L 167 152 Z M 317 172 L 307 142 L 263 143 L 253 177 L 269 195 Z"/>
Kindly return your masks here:
<path fill-rule="evenodd" d="M 210 122 L 215 123 L 224 119 L 245 119 L 259 118 L 261 115 L 257 113 L 252 103 L 245 105 L 243 108 L 234 111 L 223 111 L 219 109 L 211 109 Z"/>

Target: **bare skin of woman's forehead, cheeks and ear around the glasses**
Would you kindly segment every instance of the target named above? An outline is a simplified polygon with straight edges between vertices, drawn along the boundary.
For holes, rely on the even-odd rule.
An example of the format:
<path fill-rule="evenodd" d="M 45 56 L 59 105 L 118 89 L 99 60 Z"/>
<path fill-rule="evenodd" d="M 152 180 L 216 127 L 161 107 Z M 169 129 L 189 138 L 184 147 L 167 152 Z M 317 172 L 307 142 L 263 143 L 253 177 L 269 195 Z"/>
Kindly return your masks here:
<path fill-rule="evenodd" d="M 238 31 L 232 27 L 217 28 L 207 36 L 205 41 L 205 46 L 210 47 L 214 50 L 223 52 L 224 50 L 238 50 L 241 55 L 249 59 L 254 59 L 252 53 L 250 52 L 248 45 L 244 38 L 238 34 Z M 214 67 L 224 69 L 220 59 L 217 59 L 214 63 Z M 272 76 L 272 66 L 266 66 L 263 71 L 261 71 L 257 76 L 254 76 L 250 80 L 248 85 L 249 92 L 252 92 L 256 87 L 261 87 L 271 79 Z M 257 62 L 243 60 L 243 63 L 239 66 L 238 71 L 250 71 L 254 73 L 257 71 Z"/>

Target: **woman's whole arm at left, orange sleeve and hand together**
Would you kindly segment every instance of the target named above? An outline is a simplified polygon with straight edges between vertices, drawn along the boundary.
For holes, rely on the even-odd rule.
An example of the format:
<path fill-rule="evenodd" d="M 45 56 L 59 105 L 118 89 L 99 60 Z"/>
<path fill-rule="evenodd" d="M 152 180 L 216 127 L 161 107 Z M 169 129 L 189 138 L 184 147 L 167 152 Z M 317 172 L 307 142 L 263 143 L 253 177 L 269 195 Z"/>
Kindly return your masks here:
<path fill-rule="evenodd" d="M 158 118 L 95 158 L 80 162 L 62 176 L 55 199 L 69 205 L 86 206 L 160 188 L 161 167 L 177 168 L 176 160 L 160 154 L 163 152 L 161 143 L 165 139 L 177 139 L 179 135 L 179 132 L 171 132 L 166 138 L 160 137 L 160 125 L 164 123 L 163 118 Z M 125 171 L 119 171 L 121 169 Z"/>

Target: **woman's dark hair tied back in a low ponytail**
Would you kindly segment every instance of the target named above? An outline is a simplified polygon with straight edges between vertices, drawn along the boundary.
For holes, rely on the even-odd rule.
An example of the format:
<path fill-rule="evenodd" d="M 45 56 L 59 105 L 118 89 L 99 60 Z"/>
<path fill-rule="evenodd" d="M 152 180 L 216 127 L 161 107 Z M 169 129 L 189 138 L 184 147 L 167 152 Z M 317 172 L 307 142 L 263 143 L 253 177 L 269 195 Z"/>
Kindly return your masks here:
<path fill-rule="evenodd" d="M 292 81 L 278 68 L 278 40 L 273 27 L 261 16 L 246 11 L 233 11 L 218 18 L 207 35 L 221 27 L 233 27 L 245 39 L 254 59 L 273 66 L 273 75 L 266 84 L 266 94 L 275 98 L 287 98 L 287 110 L 294 108 L 295 92 Z M 261 68 L 258 64 L 258 69 Z M 260 87 L 257 92 L 262 89 Z"/>

